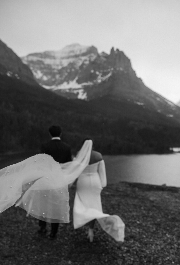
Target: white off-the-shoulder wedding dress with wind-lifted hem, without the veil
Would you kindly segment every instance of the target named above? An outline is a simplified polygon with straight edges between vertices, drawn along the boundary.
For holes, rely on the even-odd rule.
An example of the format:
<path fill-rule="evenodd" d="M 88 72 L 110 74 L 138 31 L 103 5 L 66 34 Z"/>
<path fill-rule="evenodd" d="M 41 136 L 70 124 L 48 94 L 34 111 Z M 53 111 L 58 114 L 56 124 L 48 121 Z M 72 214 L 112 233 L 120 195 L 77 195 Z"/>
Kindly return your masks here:
<path fill-rule="evenodd" d="M 102 211 L 101 191 L 107 184 L 104 160 L 87 165 L 77 181 L 73 207 L 74 229 L 97 219 L 102 229 L 116 241 L 124 241 L 125 225 L 117 215 Z"/>

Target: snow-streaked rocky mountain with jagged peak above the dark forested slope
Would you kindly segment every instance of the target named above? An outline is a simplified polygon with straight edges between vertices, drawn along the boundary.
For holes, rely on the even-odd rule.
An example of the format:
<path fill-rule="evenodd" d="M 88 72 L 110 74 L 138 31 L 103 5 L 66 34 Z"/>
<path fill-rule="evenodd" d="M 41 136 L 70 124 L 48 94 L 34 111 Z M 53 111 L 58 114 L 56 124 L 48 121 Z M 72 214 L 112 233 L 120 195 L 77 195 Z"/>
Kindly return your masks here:
<path fill-rule="evenodd" d="M 21 59 L 40 85 L 68 99 L 89 101 L 108 95 L 109 99 L 139 105 L 142 111 L 155 110 L 179 121 L 179 107 L 146 87 L 131 61 L 118 49 L 98 54 L 94 46 L 73 44 Z"/>

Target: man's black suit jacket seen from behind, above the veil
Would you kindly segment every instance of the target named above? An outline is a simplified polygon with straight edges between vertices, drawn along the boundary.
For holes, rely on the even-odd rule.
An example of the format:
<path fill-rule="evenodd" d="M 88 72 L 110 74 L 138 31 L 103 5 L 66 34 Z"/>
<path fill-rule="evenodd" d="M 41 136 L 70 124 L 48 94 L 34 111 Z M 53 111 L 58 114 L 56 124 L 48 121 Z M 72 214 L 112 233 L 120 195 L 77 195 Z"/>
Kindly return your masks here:
<path fill-rule="evenodd" d="M 58 139 L 42 144 L 41 153 L 49 154 L 59 163 L 66 163 L 72 160 L 70 146 Z"/>

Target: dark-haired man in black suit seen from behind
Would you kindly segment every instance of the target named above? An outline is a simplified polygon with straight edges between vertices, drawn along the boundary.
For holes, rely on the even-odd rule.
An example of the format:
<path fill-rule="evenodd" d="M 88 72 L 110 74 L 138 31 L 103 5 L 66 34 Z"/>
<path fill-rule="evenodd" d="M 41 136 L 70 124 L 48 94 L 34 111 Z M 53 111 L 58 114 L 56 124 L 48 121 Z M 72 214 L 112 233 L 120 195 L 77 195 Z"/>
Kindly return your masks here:
<path fill-rule="evenodd" d="M 59 163 L 72 161 L 71 149 L 69 145 L 62 142 L 60 138 L 62 135 L 61 127 L 53 125 L 49 128 L 49 132 L 51 135 L 51 141 L 42 145 L 41 153 L 49 154 L 54 158 L 55 161 Z M 39 220 L 39 226 L 40 229 L 38 230 L 38 233 L 46 234 L 46 222 Z M 55 238 L 58 227 L 59 223 L 51 223 L 51 233 L 49 236 L 51 239 Z"/>

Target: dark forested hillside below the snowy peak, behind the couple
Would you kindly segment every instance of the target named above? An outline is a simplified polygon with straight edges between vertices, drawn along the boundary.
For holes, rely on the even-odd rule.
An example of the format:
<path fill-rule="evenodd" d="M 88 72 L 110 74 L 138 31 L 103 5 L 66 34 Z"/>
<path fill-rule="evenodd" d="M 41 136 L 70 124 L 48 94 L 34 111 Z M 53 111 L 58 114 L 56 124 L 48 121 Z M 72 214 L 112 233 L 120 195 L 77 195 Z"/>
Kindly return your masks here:
<path fill-rule="evenodd" d="M 38 151 L 50 139 L 52 124 L 62 126 L 62 138 L 74 152 L 87 136 L 103 154 L 161 153 L 180 146 L 179 123 L 160 113 L 108 97 L 68 100 L 40 86 L 0 77 L 0 153 Z"/>

